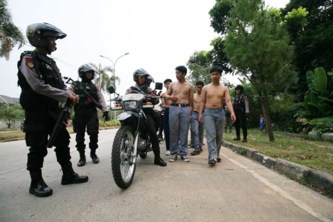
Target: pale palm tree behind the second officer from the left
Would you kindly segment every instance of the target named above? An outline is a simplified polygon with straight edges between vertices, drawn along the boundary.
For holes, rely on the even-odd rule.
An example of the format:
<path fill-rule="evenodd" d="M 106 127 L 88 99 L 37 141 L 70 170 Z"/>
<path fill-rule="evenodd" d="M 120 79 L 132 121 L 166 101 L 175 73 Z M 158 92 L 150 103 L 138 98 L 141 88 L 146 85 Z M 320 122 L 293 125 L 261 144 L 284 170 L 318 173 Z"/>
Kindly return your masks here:
<path fill-rule="evenodd" d="M 103 92 L 107 92 L 107 87 L 113 85 L 115 86 L 115 82 L 120 83 L 120 78 L 118 76 L 109 76 L 108 72 L 113 72 L 111 66 L 104 66 L 99 63 L 98 65 L 94 63 L 89 63 L 96 70 L 95 74 L 97 77 L 95 78 L 95 83 L 101 88 Z"/>

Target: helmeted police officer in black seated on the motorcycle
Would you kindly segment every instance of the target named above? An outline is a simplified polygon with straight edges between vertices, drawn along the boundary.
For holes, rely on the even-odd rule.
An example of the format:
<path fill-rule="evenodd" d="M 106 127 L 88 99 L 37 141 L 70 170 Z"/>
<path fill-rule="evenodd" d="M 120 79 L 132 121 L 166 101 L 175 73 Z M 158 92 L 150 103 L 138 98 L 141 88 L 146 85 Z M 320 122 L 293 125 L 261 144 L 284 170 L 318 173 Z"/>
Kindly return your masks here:
<path fill-rule="evenodd" d="M 140 90 L 144 94 L 148 95 L 155 95 L 155 93 L 152 91 L 150 87 L 147 86 L 146 78 L 150 76 L 149 73 L 144 70 L 144 69 L 137 69 L 133 73 L 133 80 L 135 82 L 135 86 L 131 86 L 126 90 L 126 92 L 129 92 L 130 90 Z M 154 104 L 155 101 L 152 101 Z M 158 103 L 158 101 L 156 102 Z M 155 103 L 155 104 L 156 104 Z M 151 146 L 152 146 L 152 151 L 154 153 L 154 164 L 159 165 L 159 166 L 167 166 L 167 163 L 165 163 L 161 158 L 160 158 L 160 151 L 159 151 L 159 143 L 158 143 L 158 138 L 156 135 L 156 126 L 155 126 L 155 119 L 154 119 L 154 114 L 153 114 L 152 109 L 147 109 L 144 110 L 144 114 L 146 116 L 147 120 L 147 130 L 149 134 L 149 138 L 151 141 Z"/>

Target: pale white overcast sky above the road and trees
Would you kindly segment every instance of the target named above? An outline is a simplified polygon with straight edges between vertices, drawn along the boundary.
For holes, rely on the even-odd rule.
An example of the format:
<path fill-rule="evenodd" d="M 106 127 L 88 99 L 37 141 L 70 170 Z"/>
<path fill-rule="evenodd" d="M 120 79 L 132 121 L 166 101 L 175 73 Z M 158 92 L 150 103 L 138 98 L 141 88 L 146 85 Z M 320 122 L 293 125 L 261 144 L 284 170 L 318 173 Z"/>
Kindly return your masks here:
<path fill-rule="evenodd" d="M 266 5 L 283 8 L 289 0 L 266 0 Z M 195 51 L 211 50 L 218 37 L 210 27 L 208 12 L 215 0 L 8 0 L 14 23 L 26 32 L 28 25 L 47 22 L 67 34 L 57 41 L 52 56 L 63 76 L 77 79 L 77 68 L 84 63 L 112 63 L 121 82 L 118 93 L 133 85 L 132 73 L 144 68 L 155 81 L 176 80 L 175 67 L 186 65 Z M 15 48 L 10 60 L 0 59 L 0 94 L 19 97 L 17 61 L 28 46 Z M 227 75 L 232 83 L 237 79 Z M 106 99 L 108 96 L 106 97 Z"/>

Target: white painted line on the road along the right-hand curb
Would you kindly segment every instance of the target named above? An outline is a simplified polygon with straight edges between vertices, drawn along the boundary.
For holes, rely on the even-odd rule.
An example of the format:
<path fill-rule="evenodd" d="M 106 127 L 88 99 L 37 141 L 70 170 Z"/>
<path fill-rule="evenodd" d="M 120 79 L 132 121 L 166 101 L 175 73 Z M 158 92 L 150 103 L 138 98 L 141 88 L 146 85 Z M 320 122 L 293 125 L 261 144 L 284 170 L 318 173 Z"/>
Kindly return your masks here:
<path fill-rule="evenodd" d="M 318 219 L 325 221 L 325 222 L 332 222 L 330 219 L 322 216 L 321 214 L 317 213 L 316 211 L 314 211 L 311 207 L 309 207 L 308 205 L 306 205 L 305 203 L 303 203 L 302 201 L 294 198 L 292 195 L 288 194 L 286 191 L 282 190 L 280 187 L 274 185 L 273 183 L 269 182 L 267 179 L 263 178 L 262 176 L 260 176 L 259 174 L 257 174 L 256 172 L 254 172 L 253 170 L 250 170 L 249 168 L 247 168 L 246 166 L 244 166 L 243 164 L 237 162 L 236 160 L 229 158 L 228 156 L 226 156 L 225 154 L 220 153 L 220 155 L 226 157 L 228 160 L 230 160 L 231 162 L 233 162 L 235 165 L 239 166 L 240 168 L 243 168 L 244 170 L 246 170 L 247 172 L 251 173 L 255 178 L 257 178 L 260 182 L 266 184 L 267 186 L 269 186 L 270 188 L 272 188 L 273 190 L 275 190 L 276 192 L 278 192 L 280 195 L 282 195 L 283 197 L 291 200 L 292 202 L 294 202 L 298 207 L 300 207 L 301 209 L 305 210 L 306 212 L 308 212 L 309 214 L 311 214 L 314 217 L 317 217 Z"/>

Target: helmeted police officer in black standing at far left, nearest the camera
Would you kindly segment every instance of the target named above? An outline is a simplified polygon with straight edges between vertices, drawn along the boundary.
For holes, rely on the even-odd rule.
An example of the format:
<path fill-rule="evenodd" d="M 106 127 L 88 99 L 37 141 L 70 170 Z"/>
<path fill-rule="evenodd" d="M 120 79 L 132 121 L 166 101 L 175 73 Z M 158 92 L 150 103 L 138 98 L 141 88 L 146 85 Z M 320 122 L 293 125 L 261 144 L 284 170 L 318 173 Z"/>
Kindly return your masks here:
<path fill-rule="evenodd" d="M 24 131 L 26 144 L 30 147 L 27 163 L 31 176 L 29 192 L 36 196 L 50 196 L 52 189 L 44 182 L 41 170 L 48 153 L 48 135 L 52 133 L 60 112 L 59 101 L 70 99 L 77 102 L 78 96 L 66 90 L 55 61 L 47 56 L 57 49 L 56 40 L 65 38 L 66 34 L 50 24 L 37 23 L 28 26 L 27 37 L 36 50 L 21 54 L 18 85 L 22 88 L 20 103 L 25 110 Z M 72 168 L 69 139 L 63 125 L 54 144 L 63 171 L 61 184 L 87 182 L 87 176 L 78 175 Z"/>

